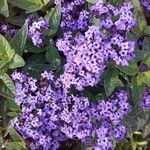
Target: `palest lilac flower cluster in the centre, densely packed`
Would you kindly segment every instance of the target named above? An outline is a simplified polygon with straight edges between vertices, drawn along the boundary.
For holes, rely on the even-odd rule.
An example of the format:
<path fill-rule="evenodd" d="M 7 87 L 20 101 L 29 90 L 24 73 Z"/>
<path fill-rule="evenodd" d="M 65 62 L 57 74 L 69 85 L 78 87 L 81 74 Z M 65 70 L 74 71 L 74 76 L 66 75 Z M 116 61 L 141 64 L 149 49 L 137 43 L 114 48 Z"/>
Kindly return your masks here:
<path fill-rule="evenodd" d="M 85 35 L 76 37 L 70 32 L 57 41 L 57 47 L 64 52 L 67 63 L 60 80 L 67 90 L 74 85 L 78 90 L 94 86 L 100 81 L 108 59 L 104 34 L 96 26 L 90 26 Z"/>

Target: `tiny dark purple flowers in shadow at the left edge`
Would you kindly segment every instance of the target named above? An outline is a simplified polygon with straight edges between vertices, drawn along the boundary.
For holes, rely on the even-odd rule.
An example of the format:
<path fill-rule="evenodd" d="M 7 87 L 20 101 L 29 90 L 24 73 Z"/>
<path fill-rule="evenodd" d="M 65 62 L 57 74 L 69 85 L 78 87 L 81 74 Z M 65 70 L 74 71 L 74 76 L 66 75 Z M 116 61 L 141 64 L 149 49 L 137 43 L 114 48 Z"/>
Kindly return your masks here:
<path fill-rule="evenodd" d="M 13 37 L 16 34 L 16 29 L 9 28 L 7 24 L 0 25 L 0 33 L 5 35 L 7 34 L 10 37 Z"/>

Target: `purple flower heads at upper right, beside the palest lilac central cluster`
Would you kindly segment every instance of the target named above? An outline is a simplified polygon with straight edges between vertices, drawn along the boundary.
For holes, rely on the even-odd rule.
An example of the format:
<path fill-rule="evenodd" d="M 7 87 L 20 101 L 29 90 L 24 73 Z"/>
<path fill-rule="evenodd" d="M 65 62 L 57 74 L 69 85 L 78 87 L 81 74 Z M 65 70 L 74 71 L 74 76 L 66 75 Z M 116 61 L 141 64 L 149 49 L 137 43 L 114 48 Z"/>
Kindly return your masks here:
<path fill-rule="evenodd" d="M 118 8 L 106 3 L 105 0 L 98 0 L 90 9 L 100 20 L 100 29 L 107 36 L 110 59 L 117 65 L 127 66 L 135 55 L 135 43 L 127 38 L 127 33 L 136 26 L 133 5 L 124 2 L 122 7 Z"/>

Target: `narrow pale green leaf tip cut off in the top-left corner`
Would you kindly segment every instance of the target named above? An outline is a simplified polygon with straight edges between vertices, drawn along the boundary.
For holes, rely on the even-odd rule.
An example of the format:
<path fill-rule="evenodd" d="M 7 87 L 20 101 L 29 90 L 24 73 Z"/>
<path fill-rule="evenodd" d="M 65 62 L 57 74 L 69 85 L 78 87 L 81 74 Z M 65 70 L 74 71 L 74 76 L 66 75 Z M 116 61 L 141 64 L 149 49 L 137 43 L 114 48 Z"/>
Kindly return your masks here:
<path fill-rule="evenodd" d="M 5 17 L 9 16 L 7 0 L 0 0 L 0 13 Z"/>

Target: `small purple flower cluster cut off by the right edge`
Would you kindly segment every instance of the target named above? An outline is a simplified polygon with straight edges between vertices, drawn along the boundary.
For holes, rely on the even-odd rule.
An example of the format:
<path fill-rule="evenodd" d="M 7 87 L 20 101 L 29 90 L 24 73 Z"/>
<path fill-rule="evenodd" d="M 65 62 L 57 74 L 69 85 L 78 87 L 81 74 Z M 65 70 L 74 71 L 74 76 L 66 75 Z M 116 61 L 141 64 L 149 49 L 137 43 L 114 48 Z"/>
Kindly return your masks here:
<path fill-rule="evenodd" d="M 143 95 L 143 99 L 140 102 L 140 106 L 143 109 L 150 109 L 150 88 L 146 88 L 144 95 Z"/>

